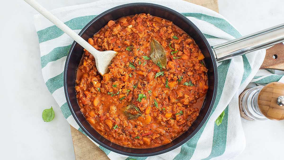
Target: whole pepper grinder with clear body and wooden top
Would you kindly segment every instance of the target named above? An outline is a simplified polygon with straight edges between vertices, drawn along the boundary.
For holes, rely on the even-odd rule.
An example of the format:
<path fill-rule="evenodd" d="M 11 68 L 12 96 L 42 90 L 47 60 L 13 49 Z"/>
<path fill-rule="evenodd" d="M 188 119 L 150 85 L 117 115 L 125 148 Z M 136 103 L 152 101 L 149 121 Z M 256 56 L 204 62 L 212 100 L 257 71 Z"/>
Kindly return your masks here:
<path fill-rule="evenodd" d="M 284 83 L 246 89 L 239 96 L 241 117 L 247 120 L 284 119 Z"/>

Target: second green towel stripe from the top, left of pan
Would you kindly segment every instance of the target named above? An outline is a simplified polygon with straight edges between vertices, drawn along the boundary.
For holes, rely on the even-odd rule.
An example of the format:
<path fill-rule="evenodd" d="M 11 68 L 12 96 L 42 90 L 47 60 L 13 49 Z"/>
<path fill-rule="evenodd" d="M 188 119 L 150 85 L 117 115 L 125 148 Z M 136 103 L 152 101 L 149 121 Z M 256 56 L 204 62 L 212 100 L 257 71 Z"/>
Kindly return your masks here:
<path fill-rule="evenodd" d="M 57 47 L 54 48 L 51 52 L 49 52 L 47 55 L 44 55 L 40 58 L 41 60 L 41 68 L 45 67 L 47 63 L 51 61 L 59 60 L 62 57 L 67 56 L 69 50 L 71 48 L 71 45 L 69 46 L 63 46 L 63 47 Z"/>

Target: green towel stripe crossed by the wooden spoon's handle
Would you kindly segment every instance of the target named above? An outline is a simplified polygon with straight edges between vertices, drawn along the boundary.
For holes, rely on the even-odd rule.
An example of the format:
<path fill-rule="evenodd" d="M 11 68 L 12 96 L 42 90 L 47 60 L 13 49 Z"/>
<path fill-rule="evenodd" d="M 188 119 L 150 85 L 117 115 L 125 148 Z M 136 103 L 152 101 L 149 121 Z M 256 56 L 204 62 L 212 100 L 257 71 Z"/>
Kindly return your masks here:
<path fill-rule="evenodd" d="M 83 29 L 96 16 L 97 15 L 76 17 L 71 20 L 68 20 L 64 24 L 66 24 L 72 30 L 80 30 Z M 37 31 L 39 43 L 52 40 L 61 36 L 62 34 L 64 34 L 64 32 L 60 30 L 57 26 L 50 26 L 43 30 Z"/>

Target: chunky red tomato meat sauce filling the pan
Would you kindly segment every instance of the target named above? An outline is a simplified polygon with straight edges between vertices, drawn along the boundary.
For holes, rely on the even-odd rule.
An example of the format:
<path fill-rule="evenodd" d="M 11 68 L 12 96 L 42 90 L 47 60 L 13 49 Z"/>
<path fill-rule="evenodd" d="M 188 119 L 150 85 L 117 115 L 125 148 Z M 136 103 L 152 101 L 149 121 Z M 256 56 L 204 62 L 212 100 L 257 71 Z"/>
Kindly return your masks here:
<path fill-rule="evenodd" d="M 152 38 L 166 52 L 166 69 L 150 58 Z M 118 52 L 103 77 L 86 50 L 77 71 L 78 104 L 99 134 L 124 147 L 152 148 L 188 130 L 208 89 L 204 56 L 188 34 L 142 13 L 110 20 L 88 42 L 99 51 Z M 135 119 L 126 114 L 130 104 Z"/>

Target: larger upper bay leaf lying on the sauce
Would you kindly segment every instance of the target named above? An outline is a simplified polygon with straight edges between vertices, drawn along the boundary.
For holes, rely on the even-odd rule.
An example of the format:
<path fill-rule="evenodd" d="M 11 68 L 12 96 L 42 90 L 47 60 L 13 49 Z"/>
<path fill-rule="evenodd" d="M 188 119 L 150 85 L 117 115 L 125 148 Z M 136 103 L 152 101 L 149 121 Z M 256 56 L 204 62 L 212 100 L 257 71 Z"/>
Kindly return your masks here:
<path fill-rule="evenodd" d="M 157 65 L 158 62 L 162 66 L 162 68 L 166 69 L 167 65 L 167 56 L 165 49 L 161 46 L 161 44 L 152 38 L 151 41 L 151 51 L 150 51 L 151 60 Z"/>

